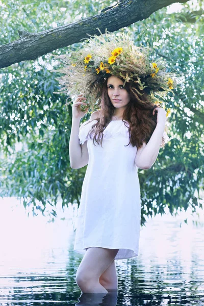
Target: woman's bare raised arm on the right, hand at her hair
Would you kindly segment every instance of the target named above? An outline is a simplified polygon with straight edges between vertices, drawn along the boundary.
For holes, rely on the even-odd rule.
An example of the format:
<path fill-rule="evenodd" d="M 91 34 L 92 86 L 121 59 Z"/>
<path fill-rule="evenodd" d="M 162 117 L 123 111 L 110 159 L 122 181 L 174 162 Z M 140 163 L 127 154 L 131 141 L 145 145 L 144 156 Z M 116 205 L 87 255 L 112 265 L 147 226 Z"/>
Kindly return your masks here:
<path fill-rule="evenodd" d="M 135 164 L 140 169 L 149 169 L 154 165 L 161 146 L 166 123 L 166 111 L 161 107 L 153 110 L 153 115 L 157 111 L 157 125 L 148 143 L 137 150 Z"/>

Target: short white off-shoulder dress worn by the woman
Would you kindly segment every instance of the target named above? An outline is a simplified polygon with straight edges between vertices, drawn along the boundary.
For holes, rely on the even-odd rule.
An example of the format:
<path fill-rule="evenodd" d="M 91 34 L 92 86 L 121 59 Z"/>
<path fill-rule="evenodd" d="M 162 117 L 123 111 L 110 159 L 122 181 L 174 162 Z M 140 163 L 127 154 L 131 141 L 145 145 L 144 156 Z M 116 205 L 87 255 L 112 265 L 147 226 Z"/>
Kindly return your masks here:
<path fill-rule="evenodd" d="M 86 125 L 86 123 L 88 124 Z M 74 251 L 88 247 L 119 249 L 115 259 L 138 256 L 141 200 L 137 147 L 129 143 L 128 127 L 111 121 L 104 130 L 103 148 L 88 137 L 97 120 L 80 126 L 80 144 L 87 141 L 89 162 L 78 210 Z M 126 125 L 129 123 L 126 121 Z"/>

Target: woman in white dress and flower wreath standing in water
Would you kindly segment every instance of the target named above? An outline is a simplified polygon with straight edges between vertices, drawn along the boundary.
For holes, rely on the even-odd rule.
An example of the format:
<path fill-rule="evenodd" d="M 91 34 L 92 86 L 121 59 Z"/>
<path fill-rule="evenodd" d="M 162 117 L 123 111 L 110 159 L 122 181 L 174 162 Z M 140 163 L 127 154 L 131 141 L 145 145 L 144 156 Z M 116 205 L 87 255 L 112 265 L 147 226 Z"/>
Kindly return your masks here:
<path fill-rule="evenodd" d="M 60 80 L 70 92 L 82 90 L 92 108 L 98 100 L 99 107 L 80 126 L 88 111 L 87 98 L 80 94 L 72 105 L 71 168 L 88 164 L 74 242 L 74 250 L 85 253 L 76 275 L 83 293 L 117 290 L 115 260 L 138 256 L 137 171 L 155 163 L 168 139 L 164 132 L 167 112 L 152 93 L 164 96 L 175 85 L 170 73 L 158 72 L 156 63 L 152 68 L 146 49 L 142 53 L 122 34 L 116 40 L 114 34 L 105 36 L 90 40 L 89 52 L 86 48 L 66 59 L 68 66 Z M 116 42 L 119 47 L 113 50 Z"/>

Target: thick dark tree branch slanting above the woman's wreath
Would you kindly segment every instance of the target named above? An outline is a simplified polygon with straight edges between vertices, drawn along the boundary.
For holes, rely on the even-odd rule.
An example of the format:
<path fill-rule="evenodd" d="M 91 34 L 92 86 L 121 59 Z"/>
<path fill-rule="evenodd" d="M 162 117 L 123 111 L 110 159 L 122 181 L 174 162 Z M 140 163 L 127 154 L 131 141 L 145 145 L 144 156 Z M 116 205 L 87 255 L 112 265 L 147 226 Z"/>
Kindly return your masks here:
<path fill-rule="evenodd" d="M 148 18 L 152 13 L 170 4 L 190 0 L 121 0 L 93 17 L 39 33 L 20 32 L 20 39 L 0 46 L 0 68 L 25 60 L 35 60 L 58 48 L 87 39 L 87 34 L 117 31 Z"/>

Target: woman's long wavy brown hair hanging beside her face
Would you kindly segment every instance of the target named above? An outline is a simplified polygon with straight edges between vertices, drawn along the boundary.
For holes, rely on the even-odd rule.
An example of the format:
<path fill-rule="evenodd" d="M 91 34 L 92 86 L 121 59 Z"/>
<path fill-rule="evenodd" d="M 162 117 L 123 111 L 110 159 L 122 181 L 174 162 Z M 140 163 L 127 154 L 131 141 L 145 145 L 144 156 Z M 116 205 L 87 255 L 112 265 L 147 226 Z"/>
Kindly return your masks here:
<path fill-rule="evenodd" d="M 101 88 L 99 118 L 94 119 L 97 120 L 97 122 L 92 125 L 92 128 L 89 131 L 89 135 L 91 139 L 93 139 L 93 143 L 96 141 L 97 144 L 100 143 L 101 146 L 103 142 L 103 131 L 112 120 L 115 109 L 108 96 L 107 81 L 108 78 L 104 81 Z M 124 82 L 124 80 L 122 81 Z M 129 127 L 129 144 L 131 143 L 133 146 L 137 146 L 137 148 L 139 148 L 142 146 L 143 141 L 146 143 L 149 141 L 152 133 L 154 132 L 157 125 L 157 112 L 155 115 L 152 115 L 152 111 L 161 106 L 149 101 L 145 89 L 143 91 L 139 90 L 135 83 L 126 82 L 124 88 L 130 94 L 130 102 L 126 105 L 122 120 L 129 122 L 129 126 L 127 126 L 126 122 L 124 122 L 125 126 Z M 98 138 L 96 139 L 97 135 Z M 164 147 L 164 145 L 164 137 L 162 137 L 161 147 Z"/>

